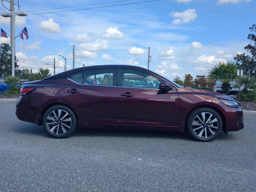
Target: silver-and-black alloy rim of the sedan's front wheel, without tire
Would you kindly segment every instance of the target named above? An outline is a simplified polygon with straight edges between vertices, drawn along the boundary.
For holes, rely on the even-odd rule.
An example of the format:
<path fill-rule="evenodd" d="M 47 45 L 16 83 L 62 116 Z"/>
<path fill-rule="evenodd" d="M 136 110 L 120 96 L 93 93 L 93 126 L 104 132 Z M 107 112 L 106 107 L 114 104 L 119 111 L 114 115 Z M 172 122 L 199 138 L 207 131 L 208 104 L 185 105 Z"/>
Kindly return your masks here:
<path fill-rule="evenodd" d="M 193 119 L 192 129 L 198 137 L 209 138 L 216 134 L 218 130 L 218 120 L 213 114 L 202 112 Z"/>

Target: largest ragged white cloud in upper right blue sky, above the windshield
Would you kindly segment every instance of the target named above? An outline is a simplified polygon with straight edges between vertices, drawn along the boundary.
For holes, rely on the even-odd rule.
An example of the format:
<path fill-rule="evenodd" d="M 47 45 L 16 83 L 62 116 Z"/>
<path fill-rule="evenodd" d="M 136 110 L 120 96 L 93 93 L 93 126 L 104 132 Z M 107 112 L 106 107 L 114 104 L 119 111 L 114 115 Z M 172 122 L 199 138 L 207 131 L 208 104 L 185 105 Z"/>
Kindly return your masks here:
<path fill-rule="evenodd" d="M 171 12 L 170 16 L 174 18 L 172 24 L 189 23 L 197 18 L 195 9 L 187 9 L 184 12 Z"/>

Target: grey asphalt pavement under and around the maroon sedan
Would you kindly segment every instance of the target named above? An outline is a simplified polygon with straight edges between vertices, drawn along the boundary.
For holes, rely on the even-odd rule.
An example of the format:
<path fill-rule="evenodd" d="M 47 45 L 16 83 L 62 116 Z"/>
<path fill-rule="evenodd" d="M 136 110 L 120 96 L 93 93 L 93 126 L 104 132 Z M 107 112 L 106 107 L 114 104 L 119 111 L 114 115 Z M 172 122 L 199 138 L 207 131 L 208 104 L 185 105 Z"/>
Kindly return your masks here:
<path fill-rule="evenodd" d="M 100 128 L 54 139 L 0 103 L 0 191 L 256 191 L 256 116 L 244 123 L 208 143 Z"/>

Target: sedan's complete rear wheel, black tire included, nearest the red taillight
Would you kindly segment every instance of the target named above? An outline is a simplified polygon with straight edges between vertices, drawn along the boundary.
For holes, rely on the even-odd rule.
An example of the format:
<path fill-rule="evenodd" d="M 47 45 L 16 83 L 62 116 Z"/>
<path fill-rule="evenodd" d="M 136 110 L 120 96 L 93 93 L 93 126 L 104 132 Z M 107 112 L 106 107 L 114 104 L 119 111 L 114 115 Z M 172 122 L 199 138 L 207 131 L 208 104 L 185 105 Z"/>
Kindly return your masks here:
<path fill-rule="evenodd" d="M 58 117 L 59 112 L 60 112 L 60 117 Z M 56 114 L 56 118 L 54 113 Z M 66 113 L 68 114 L 66 115 Z M 77 118 L 76 118 L 76 114 L 70 108 L 63 105 L 54 105 L 48 108 L 46 112 L 44 112 L 44 116 L 42 118 L 42 124 L 46 132 L 50 136 L 54 138 L 66 138 L 70 136 L 70 134 L 75 132 L 77 127 Z M 55 125 L 57 125 L 57 127 L 54 128 Z"/>

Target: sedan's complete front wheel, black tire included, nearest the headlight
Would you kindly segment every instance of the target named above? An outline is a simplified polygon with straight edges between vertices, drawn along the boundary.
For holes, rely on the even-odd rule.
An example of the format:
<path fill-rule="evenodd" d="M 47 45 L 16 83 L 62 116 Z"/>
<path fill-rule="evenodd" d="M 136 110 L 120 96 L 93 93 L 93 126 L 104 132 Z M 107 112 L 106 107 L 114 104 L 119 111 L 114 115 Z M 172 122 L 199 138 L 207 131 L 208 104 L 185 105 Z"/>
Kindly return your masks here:
<path fill-rule="evenodd" d="M 204 115 L 203 115 L 204 114 Z M 211 118 L 210 115 L 212 114 Z M 204 118 L 203 118 L 204 116 Z M 199 118 L 201 120 L 199 120 Z M 209 122 L 207 122 L 209 118 Z M 215 120 L 216 118 L 216 120 Z M 205 120 L 206 123 L 202 123 Z M 201 122 L 202 121 L 202 122 Z M 213 122 L 214 121 L 214 122 Z M 203 126 L 202 128 L 200 128 Z M 217 127 L 217 129 L 216 129 Z M 186 132 L 196 141 L 209 142 L 216 139 L 222 132 L 223 122 L 220 114 L 211 108 L 198 108 L 188 115 L 186 120 Z M 202 133 L 201 133 L 202 132 Z M 215 133 L 214 133 L 215 132 Z"/>

